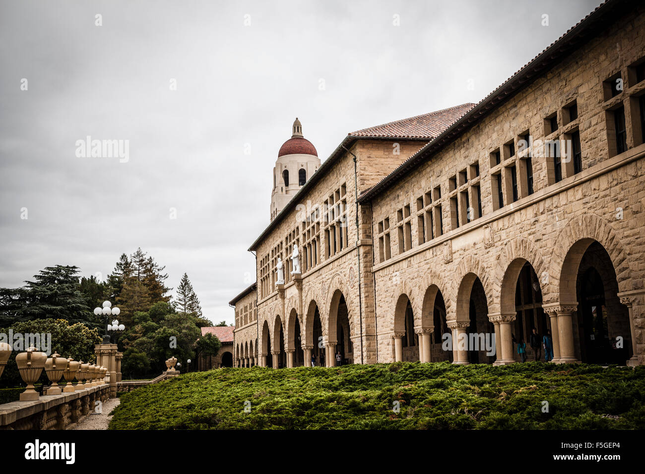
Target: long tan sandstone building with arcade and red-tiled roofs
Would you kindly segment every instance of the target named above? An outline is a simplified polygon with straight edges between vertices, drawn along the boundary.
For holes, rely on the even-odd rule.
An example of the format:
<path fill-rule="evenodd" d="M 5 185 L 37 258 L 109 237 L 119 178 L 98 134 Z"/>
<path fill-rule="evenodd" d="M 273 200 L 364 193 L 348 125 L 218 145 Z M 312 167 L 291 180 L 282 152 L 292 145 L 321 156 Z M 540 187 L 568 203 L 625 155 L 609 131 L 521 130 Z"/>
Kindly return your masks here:
<path fill-rule="evenodd" d="M 606 1 L 480 103 L 349 133 L 250 246 L 235 363 L 508 364 L 535 329 L 643 364 L 644 30 Z"/>

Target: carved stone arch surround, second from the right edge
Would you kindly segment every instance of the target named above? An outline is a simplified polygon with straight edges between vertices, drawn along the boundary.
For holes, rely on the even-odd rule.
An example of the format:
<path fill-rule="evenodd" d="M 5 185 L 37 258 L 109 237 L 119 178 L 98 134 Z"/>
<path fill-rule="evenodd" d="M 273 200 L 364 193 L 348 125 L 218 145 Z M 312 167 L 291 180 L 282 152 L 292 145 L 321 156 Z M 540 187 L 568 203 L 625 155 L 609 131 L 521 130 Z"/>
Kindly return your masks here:
<path fill-rule="evenodd" d="M 515 237 L 515 239 L 506 242 L 502 252 L 497 257 L 492 295 L 496 304 L 495 306 L 489 304 L 488 310 L 490 313 L 499 311 L 503 313 L 515 312 L 515 288 L 517 278 L 525 262 L 529 262 L 533 267 L 533 271 L 540 282 L 542 295 L 546 294 L 548 285 L 545 284 L 544 278 L 540 278 L 540 275 L 544 275 L 544 272 L 548 271 L 548 266 L 544 261 L 544 257 L 542 257 L 542 253 L 529 239 Z"/>

